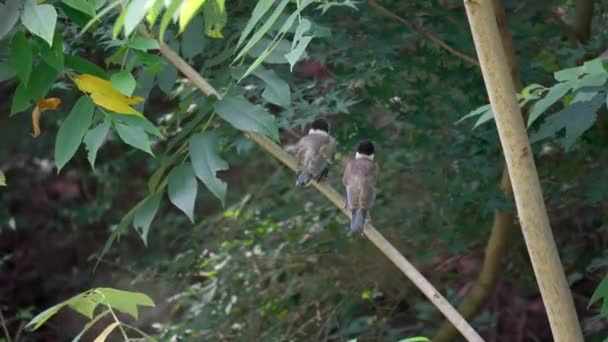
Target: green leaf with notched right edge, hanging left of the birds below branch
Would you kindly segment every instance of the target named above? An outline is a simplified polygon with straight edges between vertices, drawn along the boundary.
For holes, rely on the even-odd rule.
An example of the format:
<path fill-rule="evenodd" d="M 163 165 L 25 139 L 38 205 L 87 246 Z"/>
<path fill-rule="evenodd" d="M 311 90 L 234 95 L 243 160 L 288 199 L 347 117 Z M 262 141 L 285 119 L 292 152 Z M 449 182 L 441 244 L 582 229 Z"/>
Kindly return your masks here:
<path fill-rule="evenodd" d="M 217 178 L 217 172 L 228 170 L 228 163 L 219 156 L 217 136 L 213 133 L 194 134 L 189 146 L 194 173 L 224 206 L 228 186 Z"/>

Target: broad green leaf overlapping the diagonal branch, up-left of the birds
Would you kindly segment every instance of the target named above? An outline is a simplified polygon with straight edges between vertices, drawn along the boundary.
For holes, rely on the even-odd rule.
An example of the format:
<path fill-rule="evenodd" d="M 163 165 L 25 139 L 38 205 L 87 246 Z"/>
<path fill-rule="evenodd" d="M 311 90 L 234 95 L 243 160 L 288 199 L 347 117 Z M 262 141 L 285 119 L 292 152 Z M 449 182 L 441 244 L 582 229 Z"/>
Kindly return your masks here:
<path fill-rule="evenodd" d="M 279 140 L 275 119 L 260 105 L 254 105 L 243 96 L 226 96 L 218 101 L 215 111 L 232 126 L 242 131 L 257 132 Z"/>

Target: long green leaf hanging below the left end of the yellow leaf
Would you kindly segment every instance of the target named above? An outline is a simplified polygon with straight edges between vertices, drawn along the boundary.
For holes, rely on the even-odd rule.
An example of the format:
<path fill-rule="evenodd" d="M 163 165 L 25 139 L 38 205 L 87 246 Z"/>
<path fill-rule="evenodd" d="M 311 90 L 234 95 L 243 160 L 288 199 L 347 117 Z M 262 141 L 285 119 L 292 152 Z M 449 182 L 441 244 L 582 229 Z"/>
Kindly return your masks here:
<path fill-rule="evenodd" d="M 55 140 L 55 164 L 58 173 L 78 150 L 91 125 L 94 110 L 95 104 L 87 96 L 81 96 L 61 123 Z"/>

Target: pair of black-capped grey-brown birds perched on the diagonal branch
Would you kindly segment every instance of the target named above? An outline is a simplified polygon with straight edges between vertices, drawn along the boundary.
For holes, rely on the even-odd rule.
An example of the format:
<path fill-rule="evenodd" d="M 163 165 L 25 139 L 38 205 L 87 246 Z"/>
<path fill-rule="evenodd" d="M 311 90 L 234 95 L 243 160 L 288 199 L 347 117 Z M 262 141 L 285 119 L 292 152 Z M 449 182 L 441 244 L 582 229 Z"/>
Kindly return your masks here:
<path fill-rule="evenodd" d="M 325 119 L 315 120 L 308 135 L 298 141 L 296 157 L 298 173 L 296 185 L 309 186 L 312 180 L 323 181 L 334 163 L 336 140 L 329 135 L 329 123 Z M 369 209 L 376 199 L 378 167 L 374 162 L 374 144 L 361 140 L 355 159 L 348 161 L 342 182 L 346 187 L 346 208 L 352 217 L 351 232 L 362 232 Z"/>

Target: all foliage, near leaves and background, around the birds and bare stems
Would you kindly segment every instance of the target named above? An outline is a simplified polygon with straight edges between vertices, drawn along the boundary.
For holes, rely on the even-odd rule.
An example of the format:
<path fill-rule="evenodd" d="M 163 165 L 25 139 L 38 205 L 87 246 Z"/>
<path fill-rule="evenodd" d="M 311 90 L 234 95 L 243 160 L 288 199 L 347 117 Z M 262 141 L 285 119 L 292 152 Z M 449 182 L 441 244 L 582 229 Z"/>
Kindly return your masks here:
<path fill-rule="evenodd" d="M 487 100 L 476 67 L 365 2 L 50 0 L 28 2 L 26 19 L 21 4 L 0 3 L 0 85 L 13 115 L 0 123 L 7 127 L 0 149 L 6 174 L 0 172 L 6 251 L 0 277 L 15 267 L 19 284 L 27 284 L 20 288 L 35 285 L 41 294 L 35 301 L 12 288 L 0 295 L 15 298 L 3 311 L 13 316 L 9 329 L 31 319 L 18 309 L 35 311 L 95 288 L 61 303 L 89 310 L 85 298 L 99 299 L 94 294 L 105 288 L 98 284 L 110 281 L 167 298 L 162 315 L 146 310 L 137 321 L 163 340 L 431 336 L 440 314 L 366 241 L 342 235 L 346 218 L 314 191 L 293 189 L 293 175 L 242 132 L 289 150 L 324 116 L 340 142 L 339 160 L 360 138 L 374 139 L 382 169 L 374 224 L 451 302 L 479 271 L 493 213 L 514 207 L 497 186 L 500 146 L 492 125 L 483 125 L 492 113 L 479 107 Z M 461 2 L 382 4 L 474 55 Z M 598 128 L 606 72 L 595 57 L 608 26 L 598 24 L 592 41 L 572 46 L 561 39 L 548 5 L 505 5 L 529 84 L 520 105 L 531 109 L 529 129 L 562 259 L 577 298 L 596 303 L 605 297 L 604 286 L 593 295 L 592 289 L 604 285 L 597 273 L 606 268 L 597 260 L 606 247 L 601 208 L 608 178 Z M 607 7 L 597 6 L 601 23 Z M 53 19 L 53 11 L 56 20 L 30 25 L 32 14 Z M 220 96 L 205 97 L 184 79 L 161 54 L 165 44 Z M 60 101 L 54 109 L 52 99 Z M 477 108 L 466 116 L 477 120 L 473 132 L 453 124 L 470 108 Z M 38 119 L 30 121 L 34 113 Z M 27 135 L 32 125 L 40 128 L 36 139 Z M 15 161 L 24 151 L 33 166 Z M 51 159 L 58 174 L 41 171 L 54 171 L 45 166 Z M 337 188 L 340 171 L 328 180 Z M 544 316 L 518 306 L 539 295 L 522 242 L 513 240 L 501 286 L 474 324 L 514 339 L 502 327 L 515 326 L 521 315 L 495 308 L 525 310 L 522 329 L 542 340 Z M 45 257 L 47 248 L 58 256 Z M 46 260 L 29 264 L 32 254 L 20 250 Z M 59 260 L 66 250 L 75 250 L 69 253 L 76 262 Z M 69 267 L 49 270 L 61 261 Z M 13 283 L 2 280 L 0 291 Z M 137 314 L 133 297 L 124 296 L 122 309 L 100 299 L 93 310 Z M 579 314 L 586 337 L 601 337 L 593 322 L 602 309 Z M 103 325 L 109 315 L 96 322 Z M 92 333 L 93 320 L 83 323 L 85 331 Z M 105 327 L 107 334 L 130 329 L 119 320 Z M 49 325 L 30 336 L 71 334 L 60 329 Z"/>

